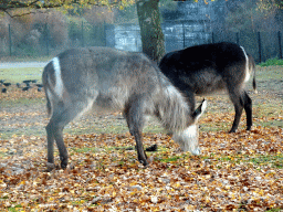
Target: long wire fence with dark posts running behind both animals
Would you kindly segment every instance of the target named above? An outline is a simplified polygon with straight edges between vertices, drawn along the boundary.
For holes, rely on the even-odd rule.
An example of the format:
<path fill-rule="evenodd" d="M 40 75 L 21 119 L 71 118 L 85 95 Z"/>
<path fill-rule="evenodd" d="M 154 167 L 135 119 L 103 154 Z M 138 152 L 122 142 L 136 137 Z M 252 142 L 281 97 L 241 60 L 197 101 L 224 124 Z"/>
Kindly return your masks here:
<path fill-rule="evenodd" d="M 181 50 L 203 43 L 235 42 L 253 55 L 256 63 L 268 59 L 282 59 L 282 32 L 212 31 L 205 22 L 163 23 L 166 52 Z M 134 24 L 90 25 L 85 22 L 71 23 L 67 29 L 52 25 L 21 32 L 9 25 L 0 34 L 0 56 L 51 56 L 65 49 L 80 46 L 112 46 L 126 51 L 142 51 L 139 26 Z"/>

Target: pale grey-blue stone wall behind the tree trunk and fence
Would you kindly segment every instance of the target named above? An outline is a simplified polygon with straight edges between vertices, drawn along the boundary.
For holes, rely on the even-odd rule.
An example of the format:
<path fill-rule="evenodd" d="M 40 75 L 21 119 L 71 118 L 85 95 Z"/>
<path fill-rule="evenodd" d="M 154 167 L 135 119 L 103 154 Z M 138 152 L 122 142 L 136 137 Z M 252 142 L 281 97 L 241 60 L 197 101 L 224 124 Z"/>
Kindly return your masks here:
<path fill-rule="evenodd" d="M 211 42 L 211 25 L 221 20 L 224 0 L 178 2 L 178 18 L 165 20 L 161 24 L 165 34 L 166 52 Z M 109 26 L 106 30 L 107 45 L 120 50 L 140 52 L 142 41 L 138 24 Z"/>

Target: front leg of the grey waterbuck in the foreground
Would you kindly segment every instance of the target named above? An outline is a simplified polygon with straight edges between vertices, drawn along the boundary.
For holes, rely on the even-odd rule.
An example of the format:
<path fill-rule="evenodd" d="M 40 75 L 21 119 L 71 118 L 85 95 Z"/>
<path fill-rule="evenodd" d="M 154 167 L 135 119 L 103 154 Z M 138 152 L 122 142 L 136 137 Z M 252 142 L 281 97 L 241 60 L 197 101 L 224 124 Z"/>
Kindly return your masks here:
<path fill-rule="evenodd" d="M 145 125 L 145 116 L 143 108 L 143 97 L 135 96 L 129 100 L 124 116 L 127 120 L 129 132 L 135 137 L 138 161 L 144 166 L 148 166 L 147 156 L 143 147 L 143 128 Z"/>

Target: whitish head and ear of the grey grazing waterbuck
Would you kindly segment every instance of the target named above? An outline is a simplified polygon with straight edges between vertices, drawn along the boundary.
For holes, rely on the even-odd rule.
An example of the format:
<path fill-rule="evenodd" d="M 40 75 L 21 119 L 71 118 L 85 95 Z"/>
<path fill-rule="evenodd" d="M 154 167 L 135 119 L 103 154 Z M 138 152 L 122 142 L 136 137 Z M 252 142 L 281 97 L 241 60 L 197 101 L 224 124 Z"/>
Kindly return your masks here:
<path fill-rule="evenodd" d="M 198 119 L 207 108 L 207 100 L 202 100 L 201 105 L 193 112 L 193 123 L 180 131 L 172 134 L 172 139 L 180 146 L 182 151 L 190 151 L 192 155 L 200 155 L 199 148 L 199 127 Z"/>

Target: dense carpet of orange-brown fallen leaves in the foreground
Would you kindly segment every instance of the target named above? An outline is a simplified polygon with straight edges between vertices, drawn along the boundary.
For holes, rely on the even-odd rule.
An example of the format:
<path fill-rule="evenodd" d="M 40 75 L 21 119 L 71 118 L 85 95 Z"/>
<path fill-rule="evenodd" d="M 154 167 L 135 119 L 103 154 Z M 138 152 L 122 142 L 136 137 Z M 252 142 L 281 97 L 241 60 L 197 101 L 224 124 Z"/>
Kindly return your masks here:
<path fill-rule="evenodd" d="M 145 134 L 158 151 L 145 169 L 129 134 L 65 136 L 70 167 L 44 172 L 45 139 L 0 147 L 0 208 L 20 211 L 265 211 L 283 208 L 283 131 L 201 132 L 200 157 L 170 137 Z M 119 148 L 117 148 L 119 147 Z M 129 150 L 128 150 L 129 149 Z M 56 153 L 56 162 L 59 157 Z"/>

